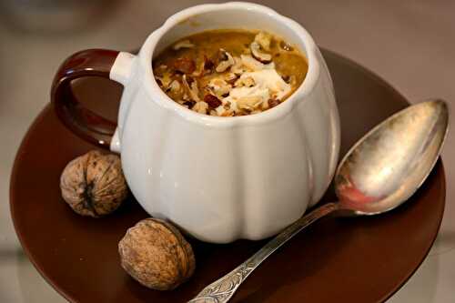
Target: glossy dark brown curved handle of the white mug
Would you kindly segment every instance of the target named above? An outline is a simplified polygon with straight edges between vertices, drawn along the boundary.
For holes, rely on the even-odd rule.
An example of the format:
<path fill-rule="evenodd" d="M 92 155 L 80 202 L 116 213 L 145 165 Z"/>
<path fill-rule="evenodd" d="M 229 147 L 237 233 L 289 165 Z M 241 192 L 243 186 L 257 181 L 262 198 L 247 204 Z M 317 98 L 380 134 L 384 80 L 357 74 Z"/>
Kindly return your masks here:
<path fill-rule="evenodd" d="M 116 123 L 82 106 L 73 95 L 70 83 L 83 76 L 109 79 L 118 54 L 106 49 L 87 49 L 69 56 L 58 68 L 51 89 L 51 102 L 60 120 L 76 135 L 105 148 L 110 146 Z"/>

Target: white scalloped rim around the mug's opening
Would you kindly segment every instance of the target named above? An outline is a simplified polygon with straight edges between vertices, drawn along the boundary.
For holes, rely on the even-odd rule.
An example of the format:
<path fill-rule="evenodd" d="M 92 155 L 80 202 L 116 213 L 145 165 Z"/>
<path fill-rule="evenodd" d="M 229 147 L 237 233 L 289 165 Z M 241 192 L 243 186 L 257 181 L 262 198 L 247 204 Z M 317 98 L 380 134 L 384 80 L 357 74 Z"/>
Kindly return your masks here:
<path fill-rule="evenodd" d="M 244 9 L 254 11 L 259 14 L 268 15 L 269 18 L 274 19 L 275 22 L 288 26 L 300 41 L 305 45 L 306 56 L 308 60 L 308 72 L 302 84 L 298 89 L 286 99 L 286 102 L 280 103 L 278 106 L 265 110 L 261 113 L 247 116 L 209 116 L 199 114 L 185 106 L 177 104 L 157 85 L 155 76 L 153 75 L 152 58 L 155 48 L 160 41 L 161 37 L 171 30 L 175 25 L 185 22 L 188 18 L 194 15 L 215 12 L 227 8 Z M 232 127 L 232 126 L 254 126 L 258 124 L 268 123 L 275 121 L 282 116 L 288 115 L 294 106 L 297 106 L 299 100 L 306 99 L 306 97 L 314 90 L 317 85 L 320 73 L 320 65 L 317 53 L 319 52 L 318 46 L 315 44 L 308 31 L 299 25 L 296 21 L 278 14 L 275 10 L 264 5 L 257 5 L 248 2 L 227 2 L 224 4 L 208 4 L 208 5 L 195 5 L 188 7 L 184 10 L 177 12 L 167 18 L 166 22 L 161 25 L 157 30 L 147 37 L 146 42 L 141 47 L 139 53 L 140 65 L 144 68 L 145 76 L 145 89 L 147 94 L 159 106 L 165 107 L 167 110 L 177 113 L 190 122 L 197 123 L 203 126 L 214 127 Z M 157 97 L 159 96 L 159 97 Z M 171 101 L 171 102 L 169 102 Z"/>

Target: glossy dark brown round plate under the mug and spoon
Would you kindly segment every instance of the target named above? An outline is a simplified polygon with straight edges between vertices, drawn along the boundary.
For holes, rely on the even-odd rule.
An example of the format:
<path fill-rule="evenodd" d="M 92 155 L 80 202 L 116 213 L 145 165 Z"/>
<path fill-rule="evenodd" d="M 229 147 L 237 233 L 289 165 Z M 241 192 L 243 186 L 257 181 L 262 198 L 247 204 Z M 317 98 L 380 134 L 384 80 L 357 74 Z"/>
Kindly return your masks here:
<path fill-rule="evenodd" d="M 408 106 L 397 91 L 355 63 L 324 52 L 333 76 L 344 154 L 382 119 Z M 86 78 L 74 91 L 115 118 L 121 87 Z M 140 286 L 120 268 L 117 243 L 147 217 L 134 198 L 112 216 L 79 217 L 60 197 L 66 163 L 91 146 L 70 133 L 49 106 L 30 127 L 15 158 L 11 212 L 26 254 L 43 277 L 73 302 L 184 302 L 251 256 L 264 241 L 211 245 L 192 240 L 193 278 L 173 291 Z M 292 239 L 239 288 L 233 302 L 380 302 L 427 255 L 440 227 L 445 180 L 441 162 L 409 203 L 378 217 L 326 217 Z M 329 190 L 324 200 L 334 199 Z"/>

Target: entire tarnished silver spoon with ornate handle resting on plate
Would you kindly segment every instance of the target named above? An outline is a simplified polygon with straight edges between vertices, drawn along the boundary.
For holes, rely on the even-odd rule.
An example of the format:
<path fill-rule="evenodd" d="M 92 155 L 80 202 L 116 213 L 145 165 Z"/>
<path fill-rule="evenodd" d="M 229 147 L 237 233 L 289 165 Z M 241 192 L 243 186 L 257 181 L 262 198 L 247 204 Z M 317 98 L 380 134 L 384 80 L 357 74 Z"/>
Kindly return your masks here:
<path fill-rule="evenodd" d="M 320 217 L 336 210 L 348 216 L 378 215 L 398 207 L 430 174 L 448 123 L 447 104 L 434 100 L 409 106 L 374 127 L 339 164 L 334 180 L 338 203 L 325 204 L 299 218 L 189 302 L 227 302 L 262 261 Z"/>

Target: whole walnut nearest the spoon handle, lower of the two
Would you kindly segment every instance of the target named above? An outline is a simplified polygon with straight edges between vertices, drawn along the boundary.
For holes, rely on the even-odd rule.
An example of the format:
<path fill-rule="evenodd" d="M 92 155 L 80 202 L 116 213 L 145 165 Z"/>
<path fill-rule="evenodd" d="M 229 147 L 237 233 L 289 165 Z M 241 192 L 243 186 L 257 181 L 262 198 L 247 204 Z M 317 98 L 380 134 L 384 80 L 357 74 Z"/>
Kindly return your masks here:
<path fill-rule="evenodd" d="M 118 243 L 122 268 L 147 288 L 177 288 L 196 268 L 193 249 L 176 227 L 147 218 L 129 228 Z"/>

